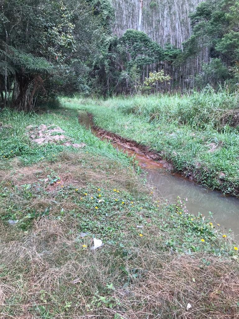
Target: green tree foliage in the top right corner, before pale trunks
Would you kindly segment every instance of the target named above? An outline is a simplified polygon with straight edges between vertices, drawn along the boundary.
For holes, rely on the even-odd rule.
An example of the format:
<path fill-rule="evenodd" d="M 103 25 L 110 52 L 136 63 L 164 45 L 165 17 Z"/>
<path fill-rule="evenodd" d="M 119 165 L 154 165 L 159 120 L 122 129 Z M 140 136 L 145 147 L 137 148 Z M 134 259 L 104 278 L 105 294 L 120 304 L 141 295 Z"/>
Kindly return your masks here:
<path fill-rule="evenodd" d="M 191 14 L 193 36 L 184 43 L 183 56 L 195 56 L 204 47 L 211 57 L 232 65 L 238 55 L 238 1 L 202 2 Z"/>

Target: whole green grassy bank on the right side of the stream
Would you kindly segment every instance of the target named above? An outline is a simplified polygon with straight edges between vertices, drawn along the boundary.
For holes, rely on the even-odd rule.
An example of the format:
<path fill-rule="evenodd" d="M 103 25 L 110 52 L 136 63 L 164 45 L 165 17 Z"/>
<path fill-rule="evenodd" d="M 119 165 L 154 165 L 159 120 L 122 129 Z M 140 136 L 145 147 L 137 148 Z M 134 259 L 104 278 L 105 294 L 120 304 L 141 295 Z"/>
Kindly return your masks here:
<path fill-rule="evenodd" d="M 238 93 L 75 98 L 63 103 L 92 113 L 97 126 L 149 146 L 176 172 L 239 196 Z"/>

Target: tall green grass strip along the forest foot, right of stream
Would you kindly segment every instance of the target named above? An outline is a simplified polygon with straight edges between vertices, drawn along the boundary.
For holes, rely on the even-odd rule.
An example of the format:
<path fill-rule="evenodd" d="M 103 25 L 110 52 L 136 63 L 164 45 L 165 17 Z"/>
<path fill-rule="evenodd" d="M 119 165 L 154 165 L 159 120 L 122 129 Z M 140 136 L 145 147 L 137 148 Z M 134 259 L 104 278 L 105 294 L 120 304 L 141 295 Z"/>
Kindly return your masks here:
<path fill-rule="evenodd" d="M 161 121 L 163 118 L 167 122 L 176 121 L 179 125 L 201 128 L 211 125 L 218 129 L 226 124 L 233 127 L 239 124 L 239 93 L 226 90 L 120 97 L 109 99 L 103 105 L 117 108 L 125 114 L 143 116 L 147 121 Z"/>

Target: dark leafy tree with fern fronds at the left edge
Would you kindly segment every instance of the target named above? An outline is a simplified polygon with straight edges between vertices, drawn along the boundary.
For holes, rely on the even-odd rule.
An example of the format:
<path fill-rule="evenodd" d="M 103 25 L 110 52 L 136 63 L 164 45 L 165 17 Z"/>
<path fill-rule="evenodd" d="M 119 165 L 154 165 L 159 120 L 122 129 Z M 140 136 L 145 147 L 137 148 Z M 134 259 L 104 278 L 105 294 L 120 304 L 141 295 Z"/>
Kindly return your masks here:
<path fill-rule="evenodd" d="M 53 64 L 64 63 L 75 50 L 73 13 L 63 2 L 54 0 L 2 0 L 1 8 L 3 106 L 7 91 L 9 96 L 12 91 L 12 105 L 29 111 L 34 95 L 43 89 L 46 78 L 56 72 Z"/>

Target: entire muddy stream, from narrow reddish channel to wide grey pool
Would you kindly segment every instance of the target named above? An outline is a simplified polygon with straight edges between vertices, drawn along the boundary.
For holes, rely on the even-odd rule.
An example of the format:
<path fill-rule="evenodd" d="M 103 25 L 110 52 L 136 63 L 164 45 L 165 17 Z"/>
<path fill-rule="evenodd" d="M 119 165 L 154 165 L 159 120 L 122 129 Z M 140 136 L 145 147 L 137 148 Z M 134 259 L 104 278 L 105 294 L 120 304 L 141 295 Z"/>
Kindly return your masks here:
<path fill-rule="evenodd" d="M 90 129 L 95 136 L 109 141 L 115 148 L 127 152 L 129 156 L 135 156 L 139 165 L 147 172 L 148 182 L 156 188 L 162 198 L 170 203 L 175 203 L 177 196 L 187 198 L 186 206 L 191 213 L 197 215 L 200 212 L 205 216 L 209 216 L 209 212 L 213 213 L 215 222 L 226 231 L 231 229 L 235 239 L 239 239 L 238 198 L 223 196 L 220 192 L 195 184 L 180 174 L 171 174 L 166 170 L 166 162 L 148 159 L 144 154 L 132 151 L 127 145 L 109 140 L 100 130 L 92 128 L 93 123 L 84 111 L 79 112 L 79 122 Z"/>

